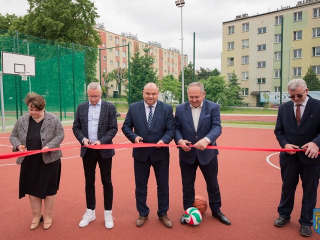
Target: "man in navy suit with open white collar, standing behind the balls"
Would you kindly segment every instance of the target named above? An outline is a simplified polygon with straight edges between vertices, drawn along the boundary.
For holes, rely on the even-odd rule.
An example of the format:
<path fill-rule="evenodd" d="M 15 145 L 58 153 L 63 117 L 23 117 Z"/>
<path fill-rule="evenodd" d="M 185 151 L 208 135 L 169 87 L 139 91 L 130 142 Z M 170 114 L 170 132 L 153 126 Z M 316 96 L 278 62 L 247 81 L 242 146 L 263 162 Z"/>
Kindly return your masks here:
<path fill-rule="evenodd" d="M 185 210 L 191 207 L 194 202 L 194 181 L 196 169 L 199 167 L 206 182 L 212 216 L 230 225 L 229 219 L 220 211 L 218 150 L 205 149 L 207 145 L 216 145 L 216 139 L 221 134 L 219 105 L 204 99 L 205 91 L 200 82 L 190 83 L 187 95 L 189 101 L 177 105 L 174 116 L 174 139 L 178 145 L 182 145 L 179 148 L 179 163 L 183 208 Z M 192 147 L 189 144 L 192 144 Z M 183 215 L 180 223 L 185 224 Z"/>

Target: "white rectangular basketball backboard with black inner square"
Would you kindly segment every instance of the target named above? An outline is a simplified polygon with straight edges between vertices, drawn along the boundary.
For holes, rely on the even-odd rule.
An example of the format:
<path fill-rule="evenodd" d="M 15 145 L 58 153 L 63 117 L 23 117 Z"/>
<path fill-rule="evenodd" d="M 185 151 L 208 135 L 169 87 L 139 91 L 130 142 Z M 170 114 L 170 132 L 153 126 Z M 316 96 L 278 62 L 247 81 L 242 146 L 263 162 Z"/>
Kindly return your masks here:
<path fill-rule="evenodd" d="M 29 76 L 35 76 L 35 57 L 15 52 L 1 51 L 2 74 L 19 75 L 27 72 Z"/>

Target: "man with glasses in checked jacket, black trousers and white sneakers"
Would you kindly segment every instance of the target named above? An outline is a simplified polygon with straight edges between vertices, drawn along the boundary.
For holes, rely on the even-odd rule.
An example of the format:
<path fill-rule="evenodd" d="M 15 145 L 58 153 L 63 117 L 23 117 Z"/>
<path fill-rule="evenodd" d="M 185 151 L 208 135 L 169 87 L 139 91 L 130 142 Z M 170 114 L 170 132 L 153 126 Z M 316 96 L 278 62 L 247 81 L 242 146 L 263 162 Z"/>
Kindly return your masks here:
<path fill-rule="evenodd" d="M 101 86 L 91 82 L 87 86 L 89 101 L 78 105 L 73 121 L 73 134 L 81 145 L 112 144 L 112 138 L 117 132 L 116 110 L 113 104 L 101 99 Z M 104 225 L 113 227 L 111 182 L 111 165 L 113 149 L 91 149 L 81 147 L 84 177 L 86 210 L 79 223 L 80 227 L 95 219 L 95 167 L 99 164 L 104 198 Z"/>

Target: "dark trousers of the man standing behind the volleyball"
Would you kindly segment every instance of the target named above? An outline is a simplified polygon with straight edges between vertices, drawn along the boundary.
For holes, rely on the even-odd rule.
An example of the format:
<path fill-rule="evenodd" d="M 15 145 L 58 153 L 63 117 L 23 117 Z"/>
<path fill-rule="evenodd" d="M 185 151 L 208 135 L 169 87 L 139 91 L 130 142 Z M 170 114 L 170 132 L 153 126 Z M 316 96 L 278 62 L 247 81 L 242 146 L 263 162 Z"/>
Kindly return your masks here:
<path fill-rule="evenodd" d="M 198 166 L 206 182 L 210 209 L 212 212 L 217 212 L 221 207 L 221 195 L 217 180 L 218 162 L 216 156 L 207 165 L 201 165 L 197 158 L 193 164 L 188 164 L 180 160 L 183 209 L 186 210 L 191 207 L 194 202 L 194 181 Z"/>

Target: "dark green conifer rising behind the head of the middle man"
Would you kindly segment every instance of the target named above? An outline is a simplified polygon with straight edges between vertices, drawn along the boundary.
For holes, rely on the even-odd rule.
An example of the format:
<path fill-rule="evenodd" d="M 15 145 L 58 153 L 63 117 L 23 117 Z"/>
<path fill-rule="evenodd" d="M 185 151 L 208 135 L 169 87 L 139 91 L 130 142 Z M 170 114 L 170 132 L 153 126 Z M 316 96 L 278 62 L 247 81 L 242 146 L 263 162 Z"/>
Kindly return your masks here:
<path fill-rule="evenodd" d="M 136 46 L 130 59 L 130 89 L 127 88 L 126 90 L 126 98 L 129 103 L 143 99 L 143 86 L 148 82 L 156 82 L 157 80 L 156 69 L 152 67 L 154 56 L 149 54 L 150 49 L 147 47 L 143 48 L 142 51 L 141 54 L 138 46 Z"/>

